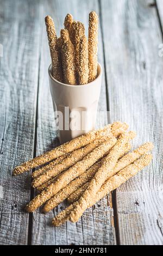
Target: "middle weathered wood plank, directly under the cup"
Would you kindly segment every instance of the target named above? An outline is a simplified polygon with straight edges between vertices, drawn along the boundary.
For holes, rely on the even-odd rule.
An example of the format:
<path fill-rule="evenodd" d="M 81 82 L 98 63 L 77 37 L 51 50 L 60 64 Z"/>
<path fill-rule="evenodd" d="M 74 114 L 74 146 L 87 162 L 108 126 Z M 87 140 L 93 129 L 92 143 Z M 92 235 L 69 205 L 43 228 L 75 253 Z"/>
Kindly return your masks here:
<path fill-rule="evenodd" d="M 56 141 L 55 124 L 53 120 L 53 108 L 51 95 L 49 93 L 48 85 L 48 65 L 50 63 L 48 42 L 46 38 L 46 31 L 44 25 L 44 17 L 51 15 L 55 22 L 58 35 L 60 29 L 63 27 L 64 18 L 67 13 L 72 13 L 75 20 L 84 22 L 88 25 L 88 15 L 91 10 L 96 10 L 99 13 L 98 1 L 43 1 L 43 12 L 41 14 L 43 36 L 42 36 L 42 50 L 41 50 L 41 66 L 39 79 L 39 108 L 38 108 L 38 127 L 37 127 L 37 154 L 45 150 L 55 147 L 58 144 Z M 102 35 L 99 30 L 99 62 L 104 69 L 103 60 L 103 46 Z M 103 84 L 101 98 L 99 101 L 99 111 L 106 111 L 106 92 L 105 92 L 105 75 L 103 74 Z M 105 117 L 98 117 L 97 126 L 106 124 Z M 111 199 L 110 199 L 111 200 Z M 112 222 L 112 208 L 106 204 L 104 199 L 100 202 L 101 207 L 98 211 L 90 208 L 87 210 L 82 219 L 77 223 L 67 223 L 60 228 L 52 228 L 47 223 L 50 223 L 54 214 L 57 214 L 64 204 L 58 206 L 53 212 L 48 215 L 43 215 L 40 211 L 33 214 L 33 231 L 32 244 L 33 245 L 101 245 L 114 244 L 115 232 Z M 98 204 L 99 205 L 99 204 Z M 100 211 L 99 211 L 100 209 Z M 104 214 L 102 214 L 104 212 Z"/>

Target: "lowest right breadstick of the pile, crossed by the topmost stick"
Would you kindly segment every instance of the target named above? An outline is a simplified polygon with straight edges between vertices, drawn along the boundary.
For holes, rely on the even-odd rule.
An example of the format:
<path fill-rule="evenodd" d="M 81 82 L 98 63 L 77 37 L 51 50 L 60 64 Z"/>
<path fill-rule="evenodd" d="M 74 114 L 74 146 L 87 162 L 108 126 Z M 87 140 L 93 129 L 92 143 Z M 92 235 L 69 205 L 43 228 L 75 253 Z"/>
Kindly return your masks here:
<path fill-rule="evenodd" d="M 110 179 L 106 180 L 103 184 L 103 190 L 97 193 L 96 198 L 93 198 L 87 206 L 87 208 L 91 207 L 93 204 L 101 200 L 106 194 L 115 190 L 117 187 L 121 186 L 124 182 L 129 180 L 131 177 L 135 176 L 140 170 L 148 166 L 148 164 L 152 160 L 152 155 L 145 155 L 134 161 L 134 163 L 130 164 L 126 168 L 122 169 L 116 175 L 112 176 Z M 61 211 L 55 218 L 53 218 L 52 224 L 54 226 L 59 226 L 63 224 L 65 221 L 69 219 L 71 211 L 76 206 L 76 203 L 68 206 L 64 211 Z"/>

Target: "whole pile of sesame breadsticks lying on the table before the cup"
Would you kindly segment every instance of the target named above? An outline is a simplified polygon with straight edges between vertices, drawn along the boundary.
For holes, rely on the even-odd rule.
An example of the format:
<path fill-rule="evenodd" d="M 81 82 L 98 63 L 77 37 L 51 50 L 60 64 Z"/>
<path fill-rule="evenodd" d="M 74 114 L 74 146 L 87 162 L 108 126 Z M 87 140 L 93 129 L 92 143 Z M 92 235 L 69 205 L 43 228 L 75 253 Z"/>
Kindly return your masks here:
<path fill-rule="evenodd" d="M 77 222 L 87 208 L 146 167 L 153 144 L 147 142 L 128 153 L 135 132 L 127 129 L 126 123 L 117 121 L 16 167 L 13 175 L 39 167 L 32 173 L 32 186 L 39 193 L 26 210 L 33 212 L 44 204 L 42 210 L 48 212 L 67 199 L 70 206 L 52 223 Z"/>

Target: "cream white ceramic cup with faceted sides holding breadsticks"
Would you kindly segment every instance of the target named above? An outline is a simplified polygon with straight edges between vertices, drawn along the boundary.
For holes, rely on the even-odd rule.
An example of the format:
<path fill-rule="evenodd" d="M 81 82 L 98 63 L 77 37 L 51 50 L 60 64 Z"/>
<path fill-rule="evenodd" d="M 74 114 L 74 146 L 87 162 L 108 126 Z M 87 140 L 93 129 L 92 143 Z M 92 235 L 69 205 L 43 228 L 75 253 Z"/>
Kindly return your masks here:
<path fill-rule="evenodd" d="M 97 78 L 82 86 L 71 86 L 55 80 L 49 66 L 49 84 L 55 119 L 58 119 L 60 143 L 65 143 L 95 130 L 98 100 L 102 83 L 102 67 L 98 64 Z"/>

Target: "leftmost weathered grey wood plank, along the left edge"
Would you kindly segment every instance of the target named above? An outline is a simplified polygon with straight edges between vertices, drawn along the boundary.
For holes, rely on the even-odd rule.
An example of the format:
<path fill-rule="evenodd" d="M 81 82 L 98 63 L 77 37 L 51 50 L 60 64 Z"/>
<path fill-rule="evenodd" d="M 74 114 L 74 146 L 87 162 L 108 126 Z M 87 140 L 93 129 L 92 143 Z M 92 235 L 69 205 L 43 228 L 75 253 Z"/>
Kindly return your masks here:
<path fill-rule="evenodd" d="M 26 11 L 22 11 L 22 10 Z M 39 64 L 39 2 L 1 1 L 0 43 L 0 244 L 26 245 L 29 173 L 11 177 L 33 157 Z"/>

